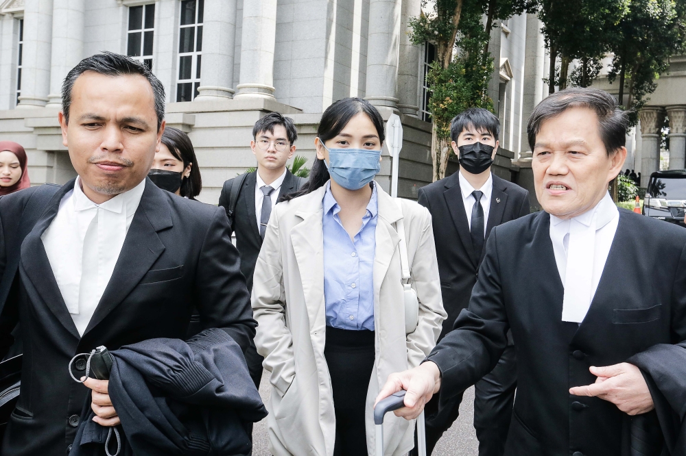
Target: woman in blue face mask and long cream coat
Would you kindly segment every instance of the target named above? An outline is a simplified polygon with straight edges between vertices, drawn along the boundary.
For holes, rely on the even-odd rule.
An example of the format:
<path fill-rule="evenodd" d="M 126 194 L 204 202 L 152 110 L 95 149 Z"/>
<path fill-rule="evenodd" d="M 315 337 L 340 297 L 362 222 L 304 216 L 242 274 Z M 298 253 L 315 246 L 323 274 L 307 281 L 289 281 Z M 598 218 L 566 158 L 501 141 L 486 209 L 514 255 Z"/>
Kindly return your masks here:
<path fill-rule="evenodd" d="M 383 121 L 368 101 L 333 103 L 315 144 L 309 181 L 274 207 L 255 266 L 255 344 L 272 383 L 270 451 L 373 454 L 379 385 L 421 363 L 446 316 L 431 216 L 373 180 Z M 411 271 L 404 281 L 401 245 Z M 414 315 L 407 282 L 418 298 Z M 413 431 L 389 415 L 386 455 L 410 451 Z"/>

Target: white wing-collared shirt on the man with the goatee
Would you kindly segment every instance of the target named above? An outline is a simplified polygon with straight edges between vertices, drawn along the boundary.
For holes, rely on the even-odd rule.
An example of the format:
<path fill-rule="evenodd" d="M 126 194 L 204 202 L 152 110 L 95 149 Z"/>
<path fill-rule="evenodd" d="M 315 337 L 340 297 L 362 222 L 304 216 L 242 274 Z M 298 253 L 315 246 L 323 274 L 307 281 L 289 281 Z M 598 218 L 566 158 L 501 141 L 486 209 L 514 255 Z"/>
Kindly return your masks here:
<path fill-rule="evenodd" d="M 83 335 L 102 298 L 141 203 L 145 179 L 128 192 L 97 205 L 81 189 L 60 201 L 60 209 L 41 239 L 57 285 L 79 334 Z"/>

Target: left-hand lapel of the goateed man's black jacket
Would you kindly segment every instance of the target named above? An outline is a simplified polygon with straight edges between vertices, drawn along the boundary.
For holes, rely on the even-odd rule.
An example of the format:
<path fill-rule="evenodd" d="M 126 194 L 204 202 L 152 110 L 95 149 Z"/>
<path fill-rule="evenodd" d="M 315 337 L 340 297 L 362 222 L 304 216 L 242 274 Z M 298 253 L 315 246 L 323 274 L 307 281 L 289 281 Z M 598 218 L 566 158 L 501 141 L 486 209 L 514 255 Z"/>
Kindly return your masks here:
<path fill-rule="evenodd" d="M 50 261 L 47 253 L 45 253 L 45 246 L 43 246 L 43 240 L 40 239 L 40 236 L 43 236 L 43 233 L 57 215 L 60 209 L 60 201 L 62 201 L 62 198 L 69 190 L 74 188 L 75 181 L 76 179 L 72 179 L 64 184 L 59 192 L 56 192 L 43 215 L 38 218 L 38 222 L 24 239 L 24 242 L 21 244 L 21 266 L 27 279 L 32 283 L 45 305 L 49 307 L 60 323 L 75 338 L 80 338 L 76 325 L 74 325 L 74 321 L 67 309 L 67 304 L 64 303 L 64 298 L 55 275 L 52 272 Z"/>

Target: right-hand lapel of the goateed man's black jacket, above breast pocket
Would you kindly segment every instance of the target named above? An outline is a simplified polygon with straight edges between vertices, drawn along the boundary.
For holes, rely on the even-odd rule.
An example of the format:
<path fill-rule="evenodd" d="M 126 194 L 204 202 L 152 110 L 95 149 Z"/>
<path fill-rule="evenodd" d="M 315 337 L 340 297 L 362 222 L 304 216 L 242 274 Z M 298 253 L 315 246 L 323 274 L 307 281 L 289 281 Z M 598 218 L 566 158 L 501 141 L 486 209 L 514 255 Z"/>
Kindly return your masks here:
<path fill-rule="evenodd" d="M 162 190 L 150 179 L 146 179 L 141 203 L 126 233 L 115 270 L 84 335 L 95 328 L 128 296 L 165 250 L 157 231 L 173 226 L 169 202 Z"/>

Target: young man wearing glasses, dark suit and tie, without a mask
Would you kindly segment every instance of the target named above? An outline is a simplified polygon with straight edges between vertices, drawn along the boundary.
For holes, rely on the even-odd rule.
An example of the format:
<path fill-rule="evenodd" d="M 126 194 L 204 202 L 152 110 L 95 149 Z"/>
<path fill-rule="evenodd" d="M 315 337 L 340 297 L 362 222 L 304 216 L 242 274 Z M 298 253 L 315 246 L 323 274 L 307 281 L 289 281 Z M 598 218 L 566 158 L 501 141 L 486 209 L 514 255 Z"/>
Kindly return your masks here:
<path fill-rule="evenodd" d="M 269 216 L 284 194 L 300 190 L 306 179 L 294 176 L 286 162 L 296 151 L 298 138 L 293 120 L 278 112 L 263 116 L 252 128 L 250 149 L 257 158 L 257 170 L 224 182 L 219 205 L 226 210 L 230 230 L 236 234 L 241 255 L 241 273 L 252 291 L 252 273 L 262 246 Z M 246 352 L 250 377 L 259 388 L 262 357 L 252 343 Z"/>

